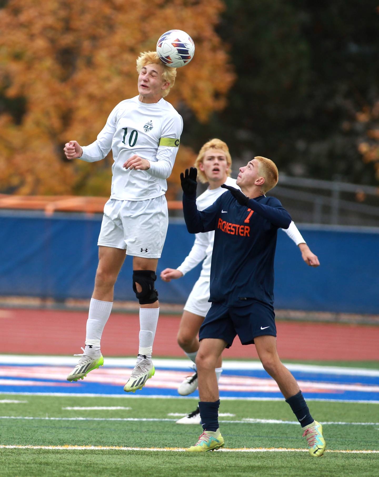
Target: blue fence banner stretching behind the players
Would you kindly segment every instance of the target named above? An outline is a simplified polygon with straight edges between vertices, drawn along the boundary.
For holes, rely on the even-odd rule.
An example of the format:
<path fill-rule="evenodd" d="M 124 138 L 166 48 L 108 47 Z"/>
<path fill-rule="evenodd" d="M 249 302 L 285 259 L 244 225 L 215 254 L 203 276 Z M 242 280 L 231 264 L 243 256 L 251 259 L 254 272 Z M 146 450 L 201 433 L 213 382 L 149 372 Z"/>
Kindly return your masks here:
<path fill-rule="evenodd" d="M 0 213 L 0 296 L 64 301 L 92 294 L 101 215 Z M 279 230 L 275 257 L 275 308 L 346 313 L 379 313 L 379 228 L 298 225 L 320 267 L 308 267 L 298 247 Z M 159 300 L 184 303 L 200 265 L 165 283 L 159 273 L 176 268 L 194 236 L 183 221 L 170 220 L 156 288 Z M 232 254 L 231 250 L 231 254 Z M 136 300 L 132 258 L 127 256 L 115 286 L 115 300 Z"/>

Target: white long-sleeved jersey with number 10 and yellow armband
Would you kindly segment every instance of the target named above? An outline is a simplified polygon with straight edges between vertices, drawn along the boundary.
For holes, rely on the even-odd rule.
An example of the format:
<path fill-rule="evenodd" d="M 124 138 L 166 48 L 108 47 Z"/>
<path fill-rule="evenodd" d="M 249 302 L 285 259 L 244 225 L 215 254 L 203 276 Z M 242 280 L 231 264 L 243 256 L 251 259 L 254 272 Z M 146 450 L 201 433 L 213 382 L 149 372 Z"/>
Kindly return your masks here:
<path fill-rule="evenodd" d="M 111 198 L 146 200 L 167 190 L 178 152 L 183 120 L 163 98 L 158 103 L 141 103 L 138 96 L 117 104 L 94 143 L 83 147 L 83 161 L 104 159 L 112 148 Z M 147 171 L 125 169 L 126 160 L 137 154 L 150 162 Z"/>

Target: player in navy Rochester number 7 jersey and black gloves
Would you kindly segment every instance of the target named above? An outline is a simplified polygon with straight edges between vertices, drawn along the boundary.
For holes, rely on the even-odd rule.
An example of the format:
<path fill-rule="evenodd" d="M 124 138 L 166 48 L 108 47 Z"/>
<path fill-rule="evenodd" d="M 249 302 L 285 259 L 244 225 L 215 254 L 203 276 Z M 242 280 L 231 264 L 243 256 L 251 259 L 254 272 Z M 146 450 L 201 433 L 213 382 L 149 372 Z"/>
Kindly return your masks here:
<path fill-rule="evenodd" d="M 218 423 L 220 405 L 215 364 L 238 334 L 242 344 L 255 344 L 263 368 L 279 386 L 302 425 L 309 454 L 322 456 L 322 426 L 310 415 L 294 376 L 281 363 L 276 350 L 274 321 L 274 256 L 278 228 L 288 228 L 289 213 L 275 197 L 265 193 L 278 182 L 273 161 L 254 157 L 240 168 L 236 184 L 222 185 L 222 194 L 210 207 L 196 207 L 196 168 L 180 175 L 183 213 L 190 233 L 215 231 L 211 262 L 211 309 L 200 328 L 196 357 L 200 416 L 203 434 L 190 452 L 224 446 Z"/>

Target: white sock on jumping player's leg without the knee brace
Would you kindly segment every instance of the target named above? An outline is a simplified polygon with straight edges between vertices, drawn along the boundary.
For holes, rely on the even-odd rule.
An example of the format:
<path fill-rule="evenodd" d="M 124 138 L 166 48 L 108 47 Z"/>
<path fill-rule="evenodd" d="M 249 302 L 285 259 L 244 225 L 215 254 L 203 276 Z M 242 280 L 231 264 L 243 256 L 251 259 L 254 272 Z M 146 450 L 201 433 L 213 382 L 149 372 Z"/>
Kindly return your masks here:
<path fill-rule="evenodd" d="M 98 356 L 100 340 L 112 310 L 112 301 L 100 301 L 91 298 L 85 334 L 85 354 Z"/>

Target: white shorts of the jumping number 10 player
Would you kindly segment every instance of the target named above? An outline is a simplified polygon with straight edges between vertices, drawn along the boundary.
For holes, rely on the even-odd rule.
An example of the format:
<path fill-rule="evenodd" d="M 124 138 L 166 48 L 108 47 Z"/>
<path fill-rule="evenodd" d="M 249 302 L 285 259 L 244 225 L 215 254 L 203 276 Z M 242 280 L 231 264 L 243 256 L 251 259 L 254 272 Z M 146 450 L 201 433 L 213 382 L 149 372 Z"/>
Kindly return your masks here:
<path fill-rule="evenodd" d="M 126 255 L 159 259 L 168 227 L 165 196 L 147 200 L 109 199 L 97 245 L 126 250 Z"/>

